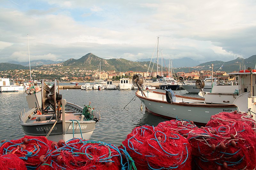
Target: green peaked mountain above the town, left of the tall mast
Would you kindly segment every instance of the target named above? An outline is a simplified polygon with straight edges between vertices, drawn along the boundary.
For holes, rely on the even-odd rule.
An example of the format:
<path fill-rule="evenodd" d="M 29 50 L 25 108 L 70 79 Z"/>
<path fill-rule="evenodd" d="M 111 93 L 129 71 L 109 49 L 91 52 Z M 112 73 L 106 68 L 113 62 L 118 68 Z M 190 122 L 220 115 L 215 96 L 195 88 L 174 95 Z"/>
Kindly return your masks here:
<path fill-rule="evenodd" d="M 84 68 L 86 70 L 96 70 L 99 67 L 99 63 L 101 63 L 101 70 L 110 71 L 116 70 L 119 71 L 121 69 L 122 72 L 125 71 L 147 71 L 148 70 L 148 62 L 134 62 L 125 59 L 102 59 L 97 57 L 92 53 L 88 53 L 81 57 L 80 59 L 69 59 L 65 62 L 62 62 L 64 67 L 69 68 Z"/>

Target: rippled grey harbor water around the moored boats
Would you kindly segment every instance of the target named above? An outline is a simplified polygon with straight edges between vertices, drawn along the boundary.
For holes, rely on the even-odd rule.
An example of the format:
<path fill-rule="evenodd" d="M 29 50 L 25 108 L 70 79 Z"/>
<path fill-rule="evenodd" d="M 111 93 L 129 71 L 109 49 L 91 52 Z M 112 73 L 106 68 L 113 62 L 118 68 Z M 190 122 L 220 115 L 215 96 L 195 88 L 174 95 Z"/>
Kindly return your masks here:
<path fill-rule="evenodd" d="M 164 92 L 160 89 L 157 91 Z M 188 94 L 186 90 L 175 92 L 179 95 L 197 96 Z M 135 127 L 145 124 L 156 126 L 168 120 L 145 111 L 144 105 L 140 110 L 141 101 L 135 97 L 135 90 L 63 89 L 60 90 L 60 94 L 67 102 L 81 107 L 91 102 L 95 111 L 100 112 L 101 119 L 91 137 L 94 141 L 120 145 Z M 19 124 L 19 114 L 21 111 L 24 114 L 24 109 L 28 111 L 26 96 L 25 92 L 0 93 L 0 140 L 24 137 L 25 134 Z"/>

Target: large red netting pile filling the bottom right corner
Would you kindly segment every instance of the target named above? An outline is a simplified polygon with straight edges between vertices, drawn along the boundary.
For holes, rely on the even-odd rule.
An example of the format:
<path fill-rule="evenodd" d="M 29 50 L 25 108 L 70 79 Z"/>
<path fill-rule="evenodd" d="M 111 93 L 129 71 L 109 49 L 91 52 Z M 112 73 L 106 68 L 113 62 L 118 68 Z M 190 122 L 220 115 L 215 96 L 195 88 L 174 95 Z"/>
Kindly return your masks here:
<path fill-rule="evenodd" d="M 188 134 L 195 166 L 200 169 L 255 169 L 256 134 L 241 122 L 201 127 Z"/>

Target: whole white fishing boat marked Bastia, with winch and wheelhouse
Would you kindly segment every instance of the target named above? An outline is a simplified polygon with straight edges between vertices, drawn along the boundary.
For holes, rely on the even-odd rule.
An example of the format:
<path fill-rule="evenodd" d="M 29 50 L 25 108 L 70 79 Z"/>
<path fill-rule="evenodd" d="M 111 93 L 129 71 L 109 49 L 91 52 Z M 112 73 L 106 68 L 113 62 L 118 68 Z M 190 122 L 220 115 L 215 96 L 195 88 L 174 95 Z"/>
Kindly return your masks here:
<path fill-rule="evenodd" d="M 229 75 L 238 77 L 238 92 L 236 90 L 234 93 L 228 94 L 225 91 L 222 92 L 220 88 L 218 93 L 207 94 L 205 98 L 196 98 L 179 96 L 172 90 L 166 89 L 166 93 L 140 90 L 135 95 L 145 105 L 146 110 L 152 114 L 169 119 L 191 120 L 198 125 L 205 125 L 212 115 L 220 112 L 237 110 L 255 113 L 256 70 L 245 73 L 229 73 Z M 140 75 L 135 74 L 134 76 L 132 82 L 138 84 L 140 88 L 143 81 L 141 81 Z M 253 117 L 255 119 L 255 115 Z"/>

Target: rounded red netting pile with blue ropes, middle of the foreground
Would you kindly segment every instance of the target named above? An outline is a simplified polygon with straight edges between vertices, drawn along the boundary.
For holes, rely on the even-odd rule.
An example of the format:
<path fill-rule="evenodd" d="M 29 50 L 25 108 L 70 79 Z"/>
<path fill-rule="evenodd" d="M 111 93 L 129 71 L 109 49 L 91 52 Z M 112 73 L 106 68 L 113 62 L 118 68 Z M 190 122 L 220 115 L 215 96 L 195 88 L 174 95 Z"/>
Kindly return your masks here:
<path fill-rule="evenodd" d="M 191 169 L 191 146 L 174 131 L 139 126 L 122 143 L 137 169 Z"/>

